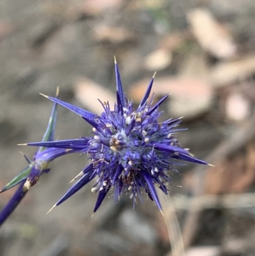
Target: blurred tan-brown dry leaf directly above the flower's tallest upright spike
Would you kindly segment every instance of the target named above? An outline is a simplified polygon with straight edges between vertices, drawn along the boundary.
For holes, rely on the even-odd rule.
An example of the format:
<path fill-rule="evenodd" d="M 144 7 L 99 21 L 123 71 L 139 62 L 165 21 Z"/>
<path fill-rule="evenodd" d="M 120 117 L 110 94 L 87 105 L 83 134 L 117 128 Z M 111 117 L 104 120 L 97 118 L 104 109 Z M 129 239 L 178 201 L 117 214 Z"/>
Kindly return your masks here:
<path fill-rule="evenodd" d="M 97 41 L 108 41 L 111 43 L 124 43 L 126 41 L 134 41 L 135 34 L 122 27 L 110 27 L 106 25 L 94 28 L 94 38 Z"/>

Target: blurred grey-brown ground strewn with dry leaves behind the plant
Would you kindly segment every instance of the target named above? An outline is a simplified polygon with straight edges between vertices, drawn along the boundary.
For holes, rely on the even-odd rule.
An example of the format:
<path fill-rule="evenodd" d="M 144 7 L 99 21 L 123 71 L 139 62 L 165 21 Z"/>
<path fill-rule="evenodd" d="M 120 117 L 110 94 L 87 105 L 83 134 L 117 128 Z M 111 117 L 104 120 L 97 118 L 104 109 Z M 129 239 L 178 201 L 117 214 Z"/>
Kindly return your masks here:
<path fill-rule="evenodd" d="M 40 141 L 45 131 L 52 103 L 39 93 L 53 96 L 59 86 L 61 100 L 99 114 L 96 99 L 114 96 L 116 56 L 135 102 L 157 71 L 156 98 L 172 92 L 164 119 L 184 116 L 189 130 L 180 144 L 216 166 L 182 167 L 173 174 L 182 188 L 170 186 L 172 201 L 162 199 L 166 223 L 175 209 L 186 255 L 254 255 L 254 13 L 252 0 L 2 0 L 0 186 L 26 166 L 19 151 L 33 156 L 34 148 L 16 145 Z M 59 107 L 59 139 L 90 130 Z M 128 197 L 118 204 L 110 197 L 91 218 L 89 184 L 46 215 L 85 160 L 54 162 L 1 228 L 1 256 L 170 255 L 163 216 L 150 200 L 133 210 Z M 0 194 L 0 209 L 14 191 Z"/>

